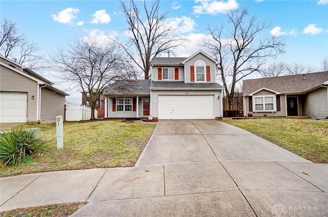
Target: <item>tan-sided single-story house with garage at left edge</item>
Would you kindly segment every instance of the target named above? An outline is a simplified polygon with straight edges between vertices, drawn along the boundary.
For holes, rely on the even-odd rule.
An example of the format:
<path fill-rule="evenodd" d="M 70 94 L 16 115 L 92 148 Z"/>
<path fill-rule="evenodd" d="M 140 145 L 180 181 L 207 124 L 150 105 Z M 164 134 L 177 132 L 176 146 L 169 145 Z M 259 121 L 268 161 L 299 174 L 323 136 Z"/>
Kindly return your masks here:
<path fill-rule="evenodd" d="M 46 78 L 0 56 L 0 123 L 54 123 L 65 96 Z"/>

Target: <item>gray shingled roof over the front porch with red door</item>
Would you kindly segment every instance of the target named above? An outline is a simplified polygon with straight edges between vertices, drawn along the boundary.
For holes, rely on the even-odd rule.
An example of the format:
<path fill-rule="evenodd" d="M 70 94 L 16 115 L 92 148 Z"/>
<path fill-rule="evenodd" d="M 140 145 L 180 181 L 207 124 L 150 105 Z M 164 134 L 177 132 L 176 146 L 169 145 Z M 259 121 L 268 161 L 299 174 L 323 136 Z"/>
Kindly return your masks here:
<path fill-rule="evenodd" d="M 120 84 L 121 83 L 121 84 Z M 150 94 L 149 86 L 151 80 L 128 80 L 128 81 L 117 81 L 115 87 L 108 88 L 104 91 L 104 95 L 146 95 Z M 119 89 L 119 87 L 122 89 Z"/>

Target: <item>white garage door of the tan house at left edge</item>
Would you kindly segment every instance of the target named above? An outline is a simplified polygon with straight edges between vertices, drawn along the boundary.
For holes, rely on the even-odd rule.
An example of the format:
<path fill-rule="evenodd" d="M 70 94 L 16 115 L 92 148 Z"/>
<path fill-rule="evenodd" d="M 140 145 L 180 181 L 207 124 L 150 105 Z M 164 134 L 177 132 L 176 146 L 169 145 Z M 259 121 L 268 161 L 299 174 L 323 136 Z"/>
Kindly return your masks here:
<path fill-rule="evenodd" d="M 27 93 L 0 92 L 0 123 L 27 122 Z"/>

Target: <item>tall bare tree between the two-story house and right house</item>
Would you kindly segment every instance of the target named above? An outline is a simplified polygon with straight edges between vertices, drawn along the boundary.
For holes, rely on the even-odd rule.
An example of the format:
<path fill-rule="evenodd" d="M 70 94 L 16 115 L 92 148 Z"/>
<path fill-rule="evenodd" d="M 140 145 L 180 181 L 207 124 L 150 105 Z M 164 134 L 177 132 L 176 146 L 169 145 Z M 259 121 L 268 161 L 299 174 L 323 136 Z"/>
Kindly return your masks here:
<path fill-rule="evenodd" d="M 231 28 L 226 29 L 223 24 L 215 28 L 209 26 L 211 40 L 205 41 L 203 45 L 209 48 L 219 63 L 217 75 L 223 82 L 230 110 L 236 83 L 259 71 L 268 57 L 283 53 L 284 40 L 281 36 L 263 37 L 261 32 L 270 26 L 258 22 L 255 16 L 249 18 L 247 9 L 228 13 L 227 25 L 231 25 Z"/>

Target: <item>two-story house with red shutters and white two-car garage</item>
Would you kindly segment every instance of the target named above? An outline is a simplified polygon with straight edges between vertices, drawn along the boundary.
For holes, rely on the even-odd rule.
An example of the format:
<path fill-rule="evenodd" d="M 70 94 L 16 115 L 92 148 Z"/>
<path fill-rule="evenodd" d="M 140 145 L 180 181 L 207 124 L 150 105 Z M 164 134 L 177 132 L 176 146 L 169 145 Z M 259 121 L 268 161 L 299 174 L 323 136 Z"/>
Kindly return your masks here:
<path fill-rule="evenodd" d="M 198 51 L 190 57 L 154 57 L 151 80 L 135 80 L 133 88 L 107 90 L 105 117 L 154 119 L 219 119 L 222 89 L 216 83 L 217 61 Z"/>

